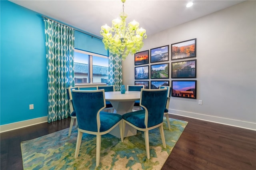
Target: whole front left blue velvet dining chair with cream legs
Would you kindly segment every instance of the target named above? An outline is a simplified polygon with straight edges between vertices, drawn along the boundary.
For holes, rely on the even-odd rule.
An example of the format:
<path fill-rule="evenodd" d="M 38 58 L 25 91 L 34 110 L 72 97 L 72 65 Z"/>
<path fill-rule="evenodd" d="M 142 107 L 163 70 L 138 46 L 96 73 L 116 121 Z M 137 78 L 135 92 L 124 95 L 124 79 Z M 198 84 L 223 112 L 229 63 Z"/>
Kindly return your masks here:
<path fill-rule="evenodd" d="M 119 125 L 121 141 L 124 141 L 122 115 L 102 111 L 106 107 L 104 89 L 92 91 L 72 90 L 72 98 L 78 123 L 74 157 L 78 157 L 82 134 L 94 134 L 96 135 L 96 166 L 99 166 L 101 136 Z"/>

